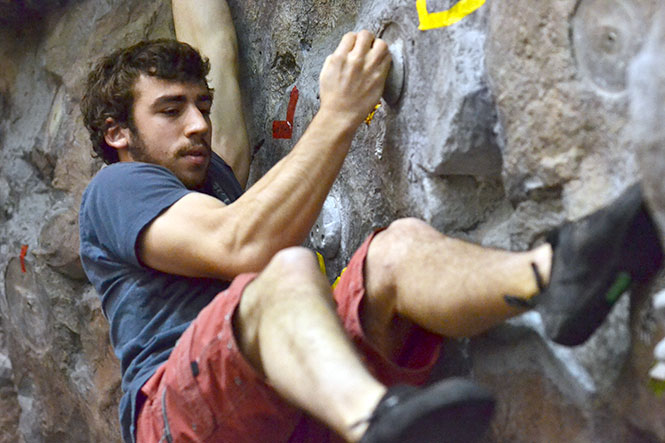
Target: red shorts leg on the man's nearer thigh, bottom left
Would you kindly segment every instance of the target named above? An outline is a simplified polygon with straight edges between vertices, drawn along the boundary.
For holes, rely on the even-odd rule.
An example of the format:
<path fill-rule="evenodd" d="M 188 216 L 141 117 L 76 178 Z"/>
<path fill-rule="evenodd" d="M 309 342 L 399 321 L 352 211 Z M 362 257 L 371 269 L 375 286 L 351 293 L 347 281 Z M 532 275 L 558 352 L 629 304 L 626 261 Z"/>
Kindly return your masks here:
<path fill-rule="evenodd" d="M 289 439 L 302 413 L 257 374 L 233 333 L 233 314 L 253 278 L 241 275 L 217 295 L 142 388 L 147 400 L 138 418 L 138 442 Z"/>

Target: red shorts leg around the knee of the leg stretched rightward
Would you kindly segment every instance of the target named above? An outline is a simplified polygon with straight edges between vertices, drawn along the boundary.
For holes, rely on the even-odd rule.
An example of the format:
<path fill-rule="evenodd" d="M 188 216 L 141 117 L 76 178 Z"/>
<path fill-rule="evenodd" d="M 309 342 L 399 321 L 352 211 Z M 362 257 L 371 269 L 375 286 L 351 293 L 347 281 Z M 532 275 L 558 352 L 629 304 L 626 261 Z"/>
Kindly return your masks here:
<path fill-rule="evenodd" d="M 404 328 L 404 346 L 397 358 L 383 355 L 362 326 L 361 312 L 365 291 L 365 259 L 374 236 L 372 233 L 355 252 L 339 278 L 335 290 L 337 312 L 372 374 L 382 383 L 422 384 L 427 381 L 439 356 L 443 339 L 410 323 Z"/>

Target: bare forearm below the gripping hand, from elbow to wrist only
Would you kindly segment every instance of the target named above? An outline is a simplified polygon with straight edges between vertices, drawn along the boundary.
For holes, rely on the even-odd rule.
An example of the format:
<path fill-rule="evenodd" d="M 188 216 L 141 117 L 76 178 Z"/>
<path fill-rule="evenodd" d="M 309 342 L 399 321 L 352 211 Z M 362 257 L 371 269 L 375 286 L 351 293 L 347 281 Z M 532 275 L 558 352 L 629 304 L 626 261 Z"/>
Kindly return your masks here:
<path fill-rule="evenodd" d="M 331 129 L 335 128 L 335 129 Z M 236 240 L 249 245 L 258 267 L 279 250 L 307 238 L 341 169 L 357 125 L 319 111 L 293 150 L 229 210 Z"/>

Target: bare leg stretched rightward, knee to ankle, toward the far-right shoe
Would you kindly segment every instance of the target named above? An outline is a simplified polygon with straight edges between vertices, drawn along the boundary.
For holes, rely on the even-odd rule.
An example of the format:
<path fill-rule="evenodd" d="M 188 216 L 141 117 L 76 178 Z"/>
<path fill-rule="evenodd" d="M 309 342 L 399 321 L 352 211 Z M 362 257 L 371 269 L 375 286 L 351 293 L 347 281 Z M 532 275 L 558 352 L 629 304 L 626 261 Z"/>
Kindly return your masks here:
<path fill-rule="evenodd" d="M 370 245 L 364 327 L 388 352 L 411 322 L 447 337 L 473 336 L 523 312 L 504 296 L 535 295 L 532 263 L 547 283 L 551 257 L 547 244 L 519 253 L 488 249 L 420 220 L 399 220 Z"/>

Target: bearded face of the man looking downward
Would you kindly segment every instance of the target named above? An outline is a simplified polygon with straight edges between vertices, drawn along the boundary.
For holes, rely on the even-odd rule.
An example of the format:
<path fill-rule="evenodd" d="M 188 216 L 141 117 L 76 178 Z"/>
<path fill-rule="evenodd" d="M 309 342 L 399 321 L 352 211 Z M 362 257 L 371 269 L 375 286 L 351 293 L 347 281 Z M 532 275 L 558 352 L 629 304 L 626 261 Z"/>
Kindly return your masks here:
<path fill-rule="evenodd" d="M 130 159 L 164 166 L 183 184 L 203 184 L 210 164 L 210 107 L 204 84 L 141 75 L 134 85 Z"/>

